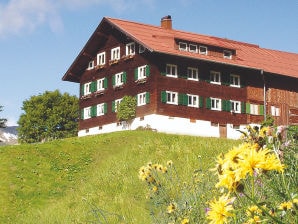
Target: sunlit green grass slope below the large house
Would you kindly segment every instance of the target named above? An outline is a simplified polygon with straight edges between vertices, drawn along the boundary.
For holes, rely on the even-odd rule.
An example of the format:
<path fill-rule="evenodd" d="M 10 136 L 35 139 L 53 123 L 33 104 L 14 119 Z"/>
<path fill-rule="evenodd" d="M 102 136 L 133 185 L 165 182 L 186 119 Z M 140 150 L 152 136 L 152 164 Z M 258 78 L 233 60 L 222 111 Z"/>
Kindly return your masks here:
<path fill-rule="evenodd" d="M 151 223 L 142 165 L 172 160 L 187 181 L 238 143 L 125 131 L 0 147 L 0 223 Z"/>

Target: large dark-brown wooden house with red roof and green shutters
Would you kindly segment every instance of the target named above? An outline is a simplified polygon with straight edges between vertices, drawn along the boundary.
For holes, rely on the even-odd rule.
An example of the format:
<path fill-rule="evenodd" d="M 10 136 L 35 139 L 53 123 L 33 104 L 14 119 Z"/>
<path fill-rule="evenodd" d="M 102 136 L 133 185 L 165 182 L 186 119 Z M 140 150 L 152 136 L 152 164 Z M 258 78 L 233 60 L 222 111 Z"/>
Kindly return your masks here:
<path fill-rule="evenodd" d="M 62 80 L 80 83 L 79 136 L 126 129 L 116 118 L 137 99 L 131 129 L 238 138 L 267 114 L 298 124 L 298 54 L 104 17 Z"/>

